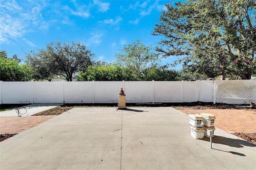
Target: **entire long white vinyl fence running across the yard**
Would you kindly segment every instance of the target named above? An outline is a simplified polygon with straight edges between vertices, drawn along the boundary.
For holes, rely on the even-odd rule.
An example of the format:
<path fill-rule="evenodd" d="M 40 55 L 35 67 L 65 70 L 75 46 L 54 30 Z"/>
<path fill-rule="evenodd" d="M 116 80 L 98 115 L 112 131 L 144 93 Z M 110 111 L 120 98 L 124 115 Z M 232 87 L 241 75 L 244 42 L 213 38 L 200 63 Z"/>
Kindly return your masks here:
<path fill-rule="evenodd" d="M 225 87 L 217 81 L 0 81 L 0 104 L 16 103 L 118 103 L 120 88 L 126 94 L 126 103 L 182 103 L 182 102 L 216 102 L 228 104 L 256 103 L 256 83 L 239 83 L 241 89 L 250 92 L 247 98 L 218 96 L 231 82 L 234 89 L 237 82 L 225 81 Z M 247 80 L 246 80 L 247 81 Z M 223 81 L 224 82 L 224 81 Z M 242 81 L 244 82 L 244 81 Z M 244 88 L 242 88 L 244 84 Z M 221 91 L 220 91 L 221 89 Z M 236 89 L 235 89 L 236 91 Z M 250 98 L 251 97 L 251 98 Z"/>

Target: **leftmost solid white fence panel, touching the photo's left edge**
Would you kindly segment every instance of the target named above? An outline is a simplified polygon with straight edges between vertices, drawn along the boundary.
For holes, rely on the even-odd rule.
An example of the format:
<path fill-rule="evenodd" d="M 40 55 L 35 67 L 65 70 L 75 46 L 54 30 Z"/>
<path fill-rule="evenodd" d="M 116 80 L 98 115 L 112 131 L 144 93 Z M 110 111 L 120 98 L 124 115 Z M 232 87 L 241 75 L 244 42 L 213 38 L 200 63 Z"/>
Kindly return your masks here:
<path fill-rule="evenodd" d="M 1 82 L 1 104 L 32 103 L 32 82 Z"/>

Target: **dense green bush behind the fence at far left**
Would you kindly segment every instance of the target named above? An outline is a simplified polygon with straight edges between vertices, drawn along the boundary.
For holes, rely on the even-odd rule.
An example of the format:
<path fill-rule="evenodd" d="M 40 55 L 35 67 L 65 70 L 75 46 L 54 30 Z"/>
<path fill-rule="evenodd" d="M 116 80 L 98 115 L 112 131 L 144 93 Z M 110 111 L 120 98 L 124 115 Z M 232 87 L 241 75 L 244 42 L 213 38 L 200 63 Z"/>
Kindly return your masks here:
<path fill-rule="evenodd" d="M 30 81 L 32 69 L 28 65 L 19 65 L 18 61 L 7 57 L 6 51 L 0 53 L 1 81 Z"/>

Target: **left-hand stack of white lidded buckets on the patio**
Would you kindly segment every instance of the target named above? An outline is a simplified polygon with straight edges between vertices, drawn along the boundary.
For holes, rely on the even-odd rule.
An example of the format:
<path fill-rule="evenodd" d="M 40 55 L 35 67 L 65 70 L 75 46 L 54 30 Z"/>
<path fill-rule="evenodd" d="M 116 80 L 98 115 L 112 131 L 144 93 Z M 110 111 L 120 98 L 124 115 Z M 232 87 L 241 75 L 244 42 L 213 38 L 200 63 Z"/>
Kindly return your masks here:
<path fill-rule="evenodd" d="M 204 128 L 202 127 L 202 121 L 204 118 L 198 114 L 189 114 L 190 133 L 196 139 L 204 138 Z"/>

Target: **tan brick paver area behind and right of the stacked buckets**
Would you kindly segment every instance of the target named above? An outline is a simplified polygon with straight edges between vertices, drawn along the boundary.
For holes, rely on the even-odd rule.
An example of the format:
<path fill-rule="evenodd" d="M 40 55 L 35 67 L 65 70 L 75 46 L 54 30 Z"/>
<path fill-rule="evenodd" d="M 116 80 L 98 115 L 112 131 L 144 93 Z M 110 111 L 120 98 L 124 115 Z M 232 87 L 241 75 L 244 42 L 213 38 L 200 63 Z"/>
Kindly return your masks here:
<path fill-rule="evenodd" d="M 215 115 L 214 126 L 226 132 L 256 132 L 256 110 L 202 109 L 180 110 L 189 113 L 210 113 Z"/>

